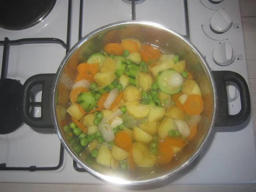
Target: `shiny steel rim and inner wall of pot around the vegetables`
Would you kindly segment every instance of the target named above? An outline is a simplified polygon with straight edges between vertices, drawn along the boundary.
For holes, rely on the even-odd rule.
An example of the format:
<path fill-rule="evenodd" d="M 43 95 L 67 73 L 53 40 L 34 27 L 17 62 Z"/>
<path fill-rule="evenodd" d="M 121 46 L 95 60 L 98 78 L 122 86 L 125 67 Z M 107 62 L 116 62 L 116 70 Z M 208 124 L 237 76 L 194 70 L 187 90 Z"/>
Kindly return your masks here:
<path fill-rule="evenodd" d="M 186 60 L 186 67 L 198 83 L 204 100 L 204 111 L 201 114 L 202 120 L 198 124 L 197 134 L 182 149 L 182 152 L 176 154 L 168 165 L 138 168 L 134 172 L 117 172 L 98 164 L 89 165 L 85 163 L 84 157 L 79 156 L 72 149 L 63 131 L 64 125 L 71 122 L 66 109 L 70 106 L 69 92 L 77 75 L 76 67 L 80 63 L 86 62 L 91 54 L 101 52 L 105 44 L 120 43 L 125 38 L 137 38 L 143 44 L 154 45 L 169 54 L 179 55 L 182 60 Z M 188 40 L 184 39 L 182 35 L 155 23 L 138 21 L 114 23 L 102 27 L 81 39 L 66 55 L 59 67 L 54 94 L 56 124 L 58 124 L 58 126 L 55 126 L 55 129 L 70 155 L 93 174 L 107 180 L 111 180 L 110 178 L 113 177 L 122 178 L 123 183 L 152 182 L 180 171 L 191 163 L 201 151 L 215 122 L 215 85 L 206 61 L 198 53 L 198 50 Z M 115 180 L 112 181 L 115 182 Z"/>

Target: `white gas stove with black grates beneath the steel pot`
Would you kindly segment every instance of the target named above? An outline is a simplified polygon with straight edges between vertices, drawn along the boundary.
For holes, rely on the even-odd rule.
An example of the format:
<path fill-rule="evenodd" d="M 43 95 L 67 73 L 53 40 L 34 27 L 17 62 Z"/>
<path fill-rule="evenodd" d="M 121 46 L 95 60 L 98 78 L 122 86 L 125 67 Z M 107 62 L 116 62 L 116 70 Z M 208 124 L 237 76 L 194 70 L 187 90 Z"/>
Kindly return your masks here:
<path fill-rule="evenodd" d="M 237 72 L 249 84 L 239 0 L 52 0 L 46 7 L 48 11 L 43 10 L 35 20 L 29 18 L 33 24 L 21 28 L 2 25 L 9 22 L 0 20 L 1 77 L 24 84 L 35 74 L 55 73 L 81 37 L 106 24 L 133 19 L 160 23 L 185 35 L 212 70 Z M 35 117 L 41 116 L 41 89 L 33 87 L 31 93 Z M 231 83 L 227 90 L 229 113 L 236 114 L 241 109 L 239 91 Z M 0 146 L 0 182 L 105 183 L 73 161 L 52 128 L 22 123 L 15 131 L 0 134 Z M 255 170 L 250 115 L 242 125 L 215 128 L 191 165 L 165 182 L 255 183 Z"/>

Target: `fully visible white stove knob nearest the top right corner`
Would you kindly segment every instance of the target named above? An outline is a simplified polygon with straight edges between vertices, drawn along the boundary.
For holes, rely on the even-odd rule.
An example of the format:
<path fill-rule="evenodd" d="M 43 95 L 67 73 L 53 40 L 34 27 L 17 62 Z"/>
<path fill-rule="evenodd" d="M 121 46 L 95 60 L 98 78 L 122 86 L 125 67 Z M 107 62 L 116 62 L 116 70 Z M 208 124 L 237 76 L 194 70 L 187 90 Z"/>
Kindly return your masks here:
<path fill-rule="evenodd" d="M 210 27 L 213 32 L 223 33 L 230 29 L 231 26 L 231 17 L 224 9 L 219 9 L 210 19 Z"/>

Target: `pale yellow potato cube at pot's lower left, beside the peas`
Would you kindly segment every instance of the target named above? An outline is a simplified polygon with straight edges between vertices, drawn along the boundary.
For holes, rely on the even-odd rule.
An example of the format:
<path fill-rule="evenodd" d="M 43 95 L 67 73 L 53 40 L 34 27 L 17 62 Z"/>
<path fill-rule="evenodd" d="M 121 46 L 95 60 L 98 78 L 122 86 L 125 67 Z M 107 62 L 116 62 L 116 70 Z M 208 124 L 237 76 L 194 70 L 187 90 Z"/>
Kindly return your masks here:
<path fill-rule="evenodd" d="M 105 145 L 101 145 L 98 150 L 98 155 L 96 156 L 96 163 L 110 167 L 111 157 L 110 149 Z"/>

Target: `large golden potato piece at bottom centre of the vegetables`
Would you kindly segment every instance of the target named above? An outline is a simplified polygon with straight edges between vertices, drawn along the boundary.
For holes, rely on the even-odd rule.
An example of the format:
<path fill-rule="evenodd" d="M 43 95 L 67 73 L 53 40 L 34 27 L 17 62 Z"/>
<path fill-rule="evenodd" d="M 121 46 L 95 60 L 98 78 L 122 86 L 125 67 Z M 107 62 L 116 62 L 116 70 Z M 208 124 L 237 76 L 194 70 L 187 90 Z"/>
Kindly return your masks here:
<path fill-rule="evenodd" d="M 157 163 L 157 157 L 150 153 L 148 148 L 142 143 L 133 144 L 132 158 L 134 163 L 140 167 L 154 166 Z"/>

